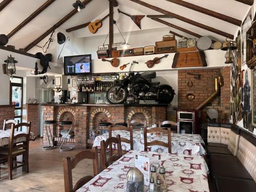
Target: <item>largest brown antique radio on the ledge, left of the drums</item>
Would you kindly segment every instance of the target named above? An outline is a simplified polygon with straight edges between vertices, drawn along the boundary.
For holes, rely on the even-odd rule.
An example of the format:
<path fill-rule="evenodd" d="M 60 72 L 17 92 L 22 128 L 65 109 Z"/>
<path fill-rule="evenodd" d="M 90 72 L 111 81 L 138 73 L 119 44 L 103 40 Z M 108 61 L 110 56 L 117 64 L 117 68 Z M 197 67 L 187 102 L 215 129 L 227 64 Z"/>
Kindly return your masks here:
<path fill-rule="evenodd" d="M 156 53 L 173 53 L 177 51 L 176 40 L 165 40 L 156 42 Z"/>

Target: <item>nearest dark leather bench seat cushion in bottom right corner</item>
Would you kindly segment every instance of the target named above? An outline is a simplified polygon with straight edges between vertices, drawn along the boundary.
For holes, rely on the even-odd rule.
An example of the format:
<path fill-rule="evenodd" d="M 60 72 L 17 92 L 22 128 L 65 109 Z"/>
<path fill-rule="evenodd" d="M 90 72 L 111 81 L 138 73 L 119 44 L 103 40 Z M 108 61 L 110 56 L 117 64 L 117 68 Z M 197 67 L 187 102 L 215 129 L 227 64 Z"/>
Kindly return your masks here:
<path fill-rule="evenodd" d="M 254 192 L 256 184 L 254 181 L 245 179 L 216 178 L 218 192 Z"/>

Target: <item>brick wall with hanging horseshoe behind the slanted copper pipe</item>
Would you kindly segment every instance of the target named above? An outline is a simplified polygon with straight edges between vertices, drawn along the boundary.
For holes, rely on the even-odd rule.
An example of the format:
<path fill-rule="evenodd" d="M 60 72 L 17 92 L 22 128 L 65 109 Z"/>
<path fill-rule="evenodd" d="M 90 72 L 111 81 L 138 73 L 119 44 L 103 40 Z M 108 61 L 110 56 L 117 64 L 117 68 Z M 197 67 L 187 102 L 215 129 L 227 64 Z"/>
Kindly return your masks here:
<path fill-rule="evenodd" d="M 201 79 L 195 79 L 193 75 L 187 73 L 200 74 Z M 218 74 L 222 74 L 224 86 L 221 87 L 221 94 L 208 103 L 201 110 L 201 121 L 206 122 L 206 109 L 216 109 L 219 113 L 218 122 L 228 122 L 229 115 L 229 99 L 230 99 L 230 70 L 229 67 L 223 69 L 205 69 L 205 70 L 181 70 L 178 71 L 178 109 L 194 110 L 204 99 L 214 92 L 214 79 Z M 188 82 L 192 82 L 193 86 L 189 87 Z M 195 95 L 193 101 L 186 99 L 187 94 Z"/>

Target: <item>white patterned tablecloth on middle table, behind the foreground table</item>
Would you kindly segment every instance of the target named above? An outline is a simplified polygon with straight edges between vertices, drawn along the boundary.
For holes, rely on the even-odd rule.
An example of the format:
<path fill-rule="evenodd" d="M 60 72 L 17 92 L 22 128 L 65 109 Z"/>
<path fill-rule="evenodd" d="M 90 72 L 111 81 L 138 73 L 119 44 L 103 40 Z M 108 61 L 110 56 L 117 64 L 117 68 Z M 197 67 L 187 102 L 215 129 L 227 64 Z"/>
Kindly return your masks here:
<path fill-rule="evenodd" d="M 123 138 L 130 139 L 130 132 L 127 131 L 114 131 L 112 132 L 112 137 L 116 137 L 120 135 Z M 109 137 L 109 134 L 103 134 L 97 136 L 94 140 L 93 146 L 100 147 L 100 141 L 106 140 Z M 160 136 L 156 136 L 155 134 L 151 136 L 147 136 L 147 141 L 159 140 L 167 143 L 167 135 L 161 134 Z M 206 155 L 204 147 L 201 143 L 204 143 L 202 137 L 200 135 L 195 134 L 172 134 L 172 153 L 184 154 L 184 155 Z M 144 138 L 143 134 L 140 134 L 140 131 L 133 132 L 133 145 L 135 151 L 144 151 Z M 129 143 L 122 142 L 122 149 L 125 151 L 130 151 L 131 146 Z M 148 147 L 148 151 L 158 152 L 158 153 L 168 153 L 168 148 L 153 145 Z"/>

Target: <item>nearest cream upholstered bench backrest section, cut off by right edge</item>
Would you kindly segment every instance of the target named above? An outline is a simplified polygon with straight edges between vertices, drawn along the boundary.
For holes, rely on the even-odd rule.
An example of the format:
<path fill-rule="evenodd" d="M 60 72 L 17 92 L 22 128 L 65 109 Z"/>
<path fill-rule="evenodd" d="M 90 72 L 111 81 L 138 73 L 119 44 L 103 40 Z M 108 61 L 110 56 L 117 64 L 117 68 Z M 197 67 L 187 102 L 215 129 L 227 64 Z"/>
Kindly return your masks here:
<path fill-rule="evenodd" d="M 256 182 L 256 136 L 242 130 L 237 157 Z"/>

